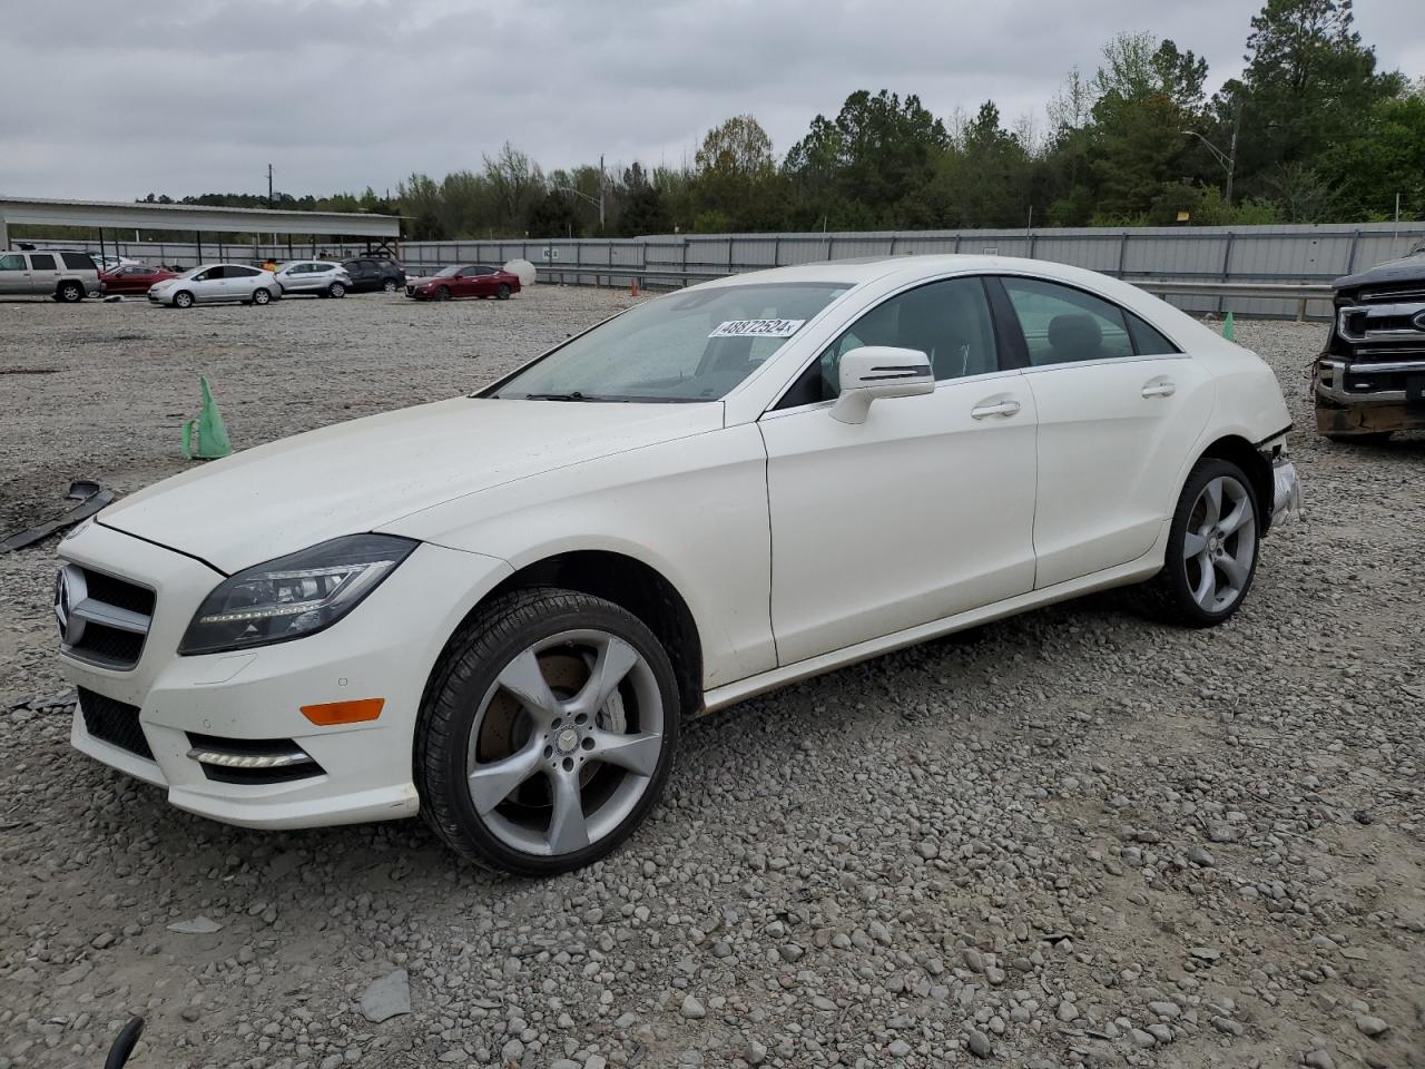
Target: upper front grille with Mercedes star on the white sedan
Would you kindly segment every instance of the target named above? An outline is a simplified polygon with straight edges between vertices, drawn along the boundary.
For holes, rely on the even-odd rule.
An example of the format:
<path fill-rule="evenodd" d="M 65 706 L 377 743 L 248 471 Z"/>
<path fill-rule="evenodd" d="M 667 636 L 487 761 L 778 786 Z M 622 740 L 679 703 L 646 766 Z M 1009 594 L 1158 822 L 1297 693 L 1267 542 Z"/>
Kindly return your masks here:
<path fill-rule="evenodd" d="M 133 668 L 144 651 L 155 600 L 150 587 L 66 564 L 56 587 L 64 651 L 101 668 Z"/>

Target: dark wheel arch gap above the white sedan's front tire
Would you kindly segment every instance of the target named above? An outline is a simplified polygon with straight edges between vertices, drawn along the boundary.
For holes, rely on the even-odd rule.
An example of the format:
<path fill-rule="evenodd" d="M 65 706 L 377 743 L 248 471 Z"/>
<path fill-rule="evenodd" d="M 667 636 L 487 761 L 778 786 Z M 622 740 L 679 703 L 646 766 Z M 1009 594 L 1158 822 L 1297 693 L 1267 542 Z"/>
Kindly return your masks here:
<path fill-rule="evenodd" d="M 703 641 L 697 621 L 678 589 L 643 560 L 613 550 L 566 550 L 540 557 L 506 576 L 466 613 L 450 636 L 459 636 L 494 599 L 513 590 L 553 586 L 601 597 L 633 613 L 657 636 L 673 661 L 684 717 L 703 710 Z M 446 644 L 449 649 L 449 641 Z M 445 650 L 440 657 L 445 657 Z M 439 661 L 437 661 L 439 666 Z M 432 668 L 432 678 L 439 667 Z"/>

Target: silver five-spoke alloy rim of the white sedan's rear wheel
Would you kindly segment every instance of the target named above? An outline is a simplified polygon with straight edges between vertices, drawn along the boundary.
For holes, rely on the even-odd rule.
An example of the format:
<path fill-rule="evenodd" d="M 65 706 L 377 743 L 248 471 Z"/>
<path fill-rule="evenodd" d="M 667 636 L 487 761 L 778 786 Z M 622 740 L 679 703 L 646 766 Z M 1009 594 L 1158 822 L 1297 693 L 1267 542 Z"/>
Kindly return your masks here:
<path fill-rule="evenodd" d="M 1251 493 L 1220 475 L 1197 496 L 1183 536 L 1183 563 L 1193 600 L 1208 613 L 1237 603 L 1257 554 L 1257 515 Z"/>

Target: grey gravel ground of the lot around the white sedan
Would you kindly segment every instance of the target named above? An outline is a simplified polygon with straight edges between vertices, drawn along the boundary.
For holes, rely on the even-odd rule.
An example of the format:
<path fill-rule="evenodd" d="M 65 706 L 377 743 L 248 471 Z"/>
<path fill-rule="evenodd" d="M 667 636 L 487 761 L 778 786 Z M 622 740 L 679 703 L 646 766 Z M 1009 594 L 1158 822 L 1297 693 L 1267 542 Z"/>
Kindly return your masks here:
<path fill-rule="evenodd" d="M 626 299 L 0 304 L 0 526 L 178 470 L 200 371 L 252 445 Z M 66 690 L 53 542 L 0 557 L 0 1069 L 97 1066 L 130 1013 L 140 1066 L 1425 1066 L 1425 443 L 1315 439 L 1321 328 L 1238 338 L 1308 513 L 1230 624 L 1100 596 L 750 701 L 547 882 L 419 821 L 227 828 L 74 754 L 67 707 L 14 708 Z"/>

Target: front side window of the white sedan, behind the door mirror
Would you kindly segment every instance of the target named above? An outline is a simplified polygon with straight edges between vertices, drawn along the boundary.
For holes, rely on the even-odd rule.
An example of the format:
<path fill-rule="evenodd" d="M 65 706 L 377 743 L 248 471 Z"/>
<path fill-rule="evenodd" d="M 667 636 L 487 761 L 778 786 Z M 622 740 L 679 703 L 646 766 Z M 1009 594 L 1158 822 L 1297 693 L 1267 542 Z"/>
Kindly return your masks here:
<path fill-rule="evenodd" d="M 802 372 L 777 406 L 834 401 L 841 393 L 841 358 L 864 345 L 923 352 L 938 382 L 999 371 L 985 284 L 979 278 L 949 278 L 896 294 L 862 315 Z"/>

